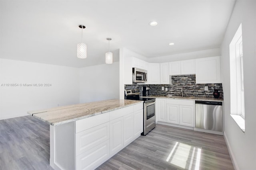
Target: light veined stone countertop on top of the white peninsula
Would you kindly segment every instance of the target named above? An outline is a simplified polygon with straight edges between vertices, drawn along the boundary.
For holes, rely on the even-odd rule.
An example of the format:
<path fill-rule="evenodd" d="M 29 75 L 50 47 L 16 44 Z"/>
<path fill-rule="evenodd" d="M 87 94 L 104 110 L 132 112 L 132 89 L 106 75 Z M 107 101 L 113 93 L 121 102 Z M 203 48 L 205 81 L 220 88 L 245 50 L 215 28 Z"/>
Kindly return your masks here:
<path fill-rule="evenodd" d="M 99 102 L 60 106 L 51 109 L 28 111 L 28 114 L 52 126 L 56 126 L 139 103 L 142 103 L 142 101 L 111 99 Z"/>

